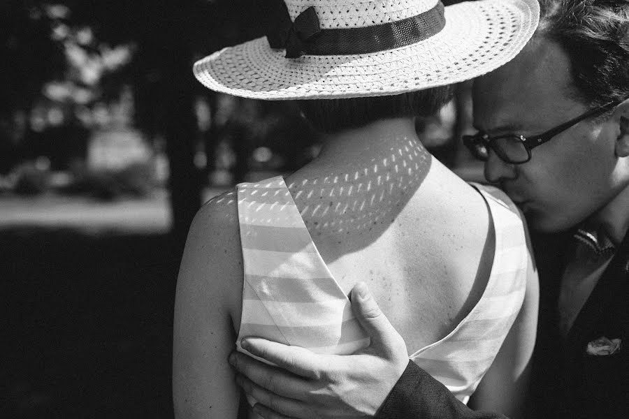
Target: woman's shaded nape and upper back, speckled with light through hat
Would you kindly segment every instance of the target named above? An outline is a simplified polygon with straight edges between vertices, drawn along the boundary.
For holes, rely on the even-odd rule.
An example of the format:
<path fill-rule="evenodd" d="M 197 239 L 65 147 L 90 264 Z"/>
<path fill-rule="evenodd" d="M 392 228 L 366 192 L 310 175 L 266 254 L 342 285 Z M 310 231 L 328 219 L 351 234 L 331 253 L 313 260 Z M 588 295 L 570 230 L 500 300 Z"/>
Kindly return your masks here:
<path fill-rule="evenodd" d="M 381 235 L 419 189 L 432 156 L 412 119 L 389 119 L 328 135 L 321 153 L 287 178 L 327 262 Z M 352 249 L 340 250 L 340 246 Z M 326 241 L 324 243 L 323 241 Z"/>

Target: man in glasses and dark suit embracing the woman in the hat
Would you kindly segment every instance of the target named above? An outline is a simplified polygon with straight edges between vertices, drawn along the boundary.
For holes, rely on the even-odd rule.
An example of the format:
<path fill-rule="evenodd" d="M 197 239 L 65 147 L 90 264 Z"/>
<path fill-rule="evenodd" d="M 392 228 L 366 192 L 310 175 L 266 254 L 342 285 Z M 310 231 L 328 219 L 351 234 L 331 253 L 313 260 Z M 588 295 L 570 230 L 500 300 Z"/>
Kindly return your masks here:
<path fill-rule="evenodd" d="M 628 418 L 629 2 L 541 3 L 533 41 L 475 82 L 480 132 L 465 142 L 531 229 L 569 233 L 534 243 L 542 300 L 528 416 Z M 363 353 L 250 339 L 288 371 L 231 358 L 263 417 L 500 417 L 471 411 L 412 363 L 397 383 L 382 379 L 406 363 L 405 344 L 364 286 L 352 302 L 372 336 Z M 305 378 L 287 389 L 287 375 Z"/>

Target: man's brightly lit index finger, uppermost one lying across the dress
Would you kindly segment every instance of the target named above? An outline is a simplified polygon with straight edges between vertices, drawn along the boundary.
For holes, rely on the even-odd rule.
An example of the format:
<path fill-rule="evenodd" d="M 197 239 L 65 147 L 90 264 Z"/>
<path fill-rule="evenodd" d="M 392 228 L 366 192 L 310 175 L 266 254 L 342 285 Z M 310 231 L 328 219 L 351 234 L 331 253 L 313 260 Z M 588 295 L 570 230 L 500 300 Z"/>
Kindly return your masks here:
<path fill-rule="evenodd" d="M 247 351 L 282 369 L 305 378 L 317 378 L 319 364 L 315 354 L 299 346 L 288 346 L 259 337 L 245 337 L 240 343 Z"/>

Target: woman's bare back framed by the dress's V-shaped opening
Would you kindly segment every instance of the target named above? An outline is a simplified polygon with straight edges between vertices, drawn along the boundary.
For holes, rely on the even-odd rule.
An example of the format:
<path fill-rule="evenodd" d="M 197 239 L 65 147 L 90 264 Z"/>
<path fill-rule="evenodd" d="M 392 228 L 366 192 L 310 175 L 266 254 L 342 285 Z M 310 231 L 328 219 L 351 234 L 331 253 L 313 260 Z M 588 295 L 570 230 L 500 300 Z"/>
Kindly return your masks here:
<path fill-rule="evenodd" d="M 423 152 L 419 158 L 431 159 Z M 398 167 L 412 164 L 404 161 L 398 156 Z M 479 300 L 493 230 L 482 196 L 438 161 L 405 177 L 393 177 L 394 168 L 356 179 L 350 172 L 349 182 L 344 173 L 305 179 L 297 172 L 287 184 L 342 290 L 349 295 L 366 281 L 412 353 L 451 332 Z M 373 205 L 381 198 L 384 205 Z"/>

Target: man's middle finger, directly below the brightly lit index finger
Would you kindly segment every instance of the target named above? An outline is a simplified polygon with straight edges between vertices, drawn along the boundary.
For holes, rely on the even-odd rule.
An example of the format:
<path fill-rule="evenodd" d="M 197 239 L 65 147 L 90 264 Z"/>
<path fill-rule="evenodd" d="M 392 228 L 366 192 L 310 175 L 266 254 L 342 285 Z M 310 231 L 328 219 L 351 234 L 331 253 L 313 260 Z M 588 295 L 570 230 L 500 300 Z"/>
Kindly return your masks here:
<path fill-rule="evenodd" d="M 229 363 L 256 385 L 277 395 L 299 399 L 309 390 L 308 382 L 303 378 L 254 360 L 249 355 L 233 352 L 229 355 Z"/>

